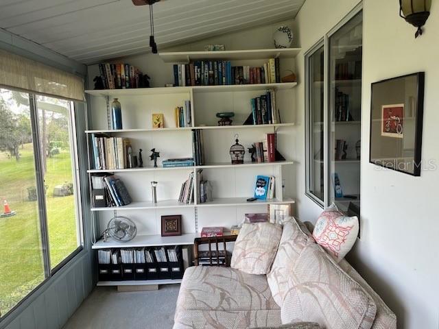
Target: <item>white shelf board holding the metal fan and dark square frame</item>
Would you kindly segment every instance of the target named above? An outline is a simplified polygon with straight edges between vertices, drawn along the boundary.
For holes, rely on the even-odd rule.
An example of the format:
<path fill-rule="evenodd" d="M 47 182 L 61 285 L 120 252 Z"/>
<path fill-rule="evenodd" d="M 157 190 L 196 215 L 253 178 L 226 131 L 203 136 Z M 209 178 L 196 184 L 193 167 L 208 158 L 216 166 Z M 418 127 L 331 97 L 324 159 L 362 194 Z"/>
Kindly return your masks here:
<path fill-rule="evenodd" d="M 107 242 L 103 240 L 97 241 L 92 249 L 106 249 L 106 248 L 132 248 L 132 247 L 157 247 L 162 245 L 191 245 L 193 239 L 200 234 L 186 233 L 178 236 L 161 236 L 154 235 L 137 235 L 134 239 L 128 242 L 119 242 L 108 238 Z"/>

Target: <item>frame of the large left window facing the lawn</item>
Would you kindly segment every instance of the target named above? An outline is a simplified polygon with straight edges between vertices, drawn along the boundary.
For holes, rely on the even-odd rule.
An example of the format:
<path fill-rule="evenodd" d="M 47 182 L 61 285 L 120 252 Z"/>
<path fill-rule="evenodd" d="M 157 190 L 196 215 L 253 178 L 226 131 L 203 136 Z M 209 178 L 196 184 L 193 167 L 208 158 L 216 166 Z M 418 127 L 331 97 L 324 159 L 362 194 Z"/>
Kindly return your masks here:
<path fill-rule="evenodd" d="M 38 93 L 29 93 L 29 91 L 23 91 L 19 88 L 12 88 L 10 86 L 3 86 L 2 88 L 16 91 L 19 93 L 27 93 L 29 97 L 29 112 L 30 121 L 32 128 L 32 140 L 40 141 L 40 130 L 38 123 L 38 104 L 37 96 L 42 95 Z M 45 96 L 45 95 L 43 95 Z M 52 98 L 62 99 L 62 97 Z M 32 291 L 29 291 L 17 304 L 15 304 L 10 310 L 4 314 L 0 314 L 0 321 L 6 319 L 15 310 L 20 308 L 29 297 L 31 297 L 36 291 L 41 289 L 60 269 L 68 265 L 75 256 L 78 256 L 84 250 L 84 216 L 82 212 L 82 191 L 80 186 L 80 164 L 79 164 L 79 153 L 78 153 L 78 131 L 75 121 L 75 107 L 78 101 L 68 99 L 71 102 L 69 106 L 69 141 L 71 143 L 71 159 L 72 159 L 72 176 L 73 176 L 73 188 L 75 189 L 75 217 L 76 217 L 76 227 L 78 234 L 78 247 L 76 247 L 73 252 L 64 258 L 56 267 L 51 268 L 50 261 L 50 246 L 49 246 L 49 232 L 47 227 L 47 208 L 46 208 L 46 197 L 45 197 L 45 184 L 44 184 L 44 171 L 43 171 L 43 157 L 42 149 L 40 143 L 33 143 L 34 150 L 34 166 L 35 166 L 35 176 L 36 176 L 36 193 L 37 193 L 37 206 L 38 206 L 38 223 L 40 225 L 40 239 L 41 239 L 41 252 L 43 254 L 43 269 L 44 269 L 44 280 L 42 280 Z"/>

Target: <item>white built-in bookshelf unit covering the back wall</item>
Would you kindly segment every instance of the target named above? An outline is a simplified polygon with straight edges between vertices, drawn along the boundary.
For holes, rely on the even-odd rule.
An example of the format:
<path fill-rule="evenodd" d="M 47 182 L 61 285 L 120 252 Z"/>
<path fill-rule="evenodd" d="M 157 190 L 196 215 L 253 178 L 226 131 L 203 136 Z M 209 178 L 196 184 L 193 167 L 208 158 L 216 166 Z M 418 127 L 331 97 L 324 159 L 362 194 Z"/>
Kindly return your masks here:
<path fill-rule="evenodd" d="M 191 60 L 232 60 L 238 65 L 257 66 L 268 58 L 280 58 L 281 68 L 294 70 L 294 59 L 300 49 L 252 49 L 242 51 L 189 51 L 160 53 L 164 63 L 182 63 Z M 163 64 L 163 69 L 171 66 Z M 283 71 L 283 70 L 282 70 Z M 281 73 L 282 74 L 282 73 Z M 158 245 L 190 245 L 203 226 L 224 226 L 238 224 L 247 212 L 266 212 L 268 204 L 294 204 L 294 181 L 291 177 L 294 166 L 294 95 L 296 82 L 274 84 L 243 84 L 230 86 L 185 86 L 167 88 L 137 88 L 117 90 L 86 90 L 91 125 L 86 130 L 91 134 L 108 134 L 130 138 L 134 150 L 143 149 L 143 168 L 95 169 L 93 164 L 88 174 L 115 173 L 123 180 L 132 199 L 128 206 L 91 208 L 97 217 L 100 234 L 114 215 L 127 216 L 137 224 L 138 235 L 128 243 L 97 241 L 93 249 L 112 247 L 147 247 Z M 250 99 L 265 93 L 276 92 L 276 102 L 281 114 L 279 123 L 264 125 L 243 125 L 251 112 Z M 122 108 L 123 129 L 108 129 L 107 106 L 112 98 L 118 98 Z M 190 127 L 176 127 L 174 108 L 191 101 L 192 124 Z M 233 124 L 218 126 L 216 112 L 235 112 Z M 153 113 L 163 113 L 165 128 L 153 129 Z M 192 156 L 192 132 L 202 130 L 204 134 L 205 164 L 191 167 L 163 168 L 161 161 L 167 158 Z M 262 141 L 265 134 L 277 132 L 278 150 L 287 159 L 277 162 L 251 162 L 248 147 Z M 246 148 L 244 164 L 231 164 L 230 146 L 239 134 L 239 143 Z M 90 147 L 91 145 L 89 145 Z M 158 167 L 152 167 L 150 149 L 160 152 Z M 89 151 L 93 152 L 93 149 Z M 91 156 L 93 159 L 93 156 Z M 93 161 L 92 161 L 93 162 Z M 189 173 L 202 169 L 205 180 L 213 186 L 213 200 L 204 204 L 195 202 L 182 204 L 176 200 L 182 182 Z M 257 175 L 272 175 L 276 179 L 275 198 L 248 202 L 253 196 Z M 152 203 L 151 181 L 157 181 L 158 202 Z M 283 184 L 285 181 L 285 188 Z M 161 216 L 182 215 L 182 236 L 161 236 Z M 156 282 L 157 281 L 157 282 Z M 178 283 L 180 280 L 147 280 L 123 282 L 99 282 L 98 285 L 134 285 Z"/>

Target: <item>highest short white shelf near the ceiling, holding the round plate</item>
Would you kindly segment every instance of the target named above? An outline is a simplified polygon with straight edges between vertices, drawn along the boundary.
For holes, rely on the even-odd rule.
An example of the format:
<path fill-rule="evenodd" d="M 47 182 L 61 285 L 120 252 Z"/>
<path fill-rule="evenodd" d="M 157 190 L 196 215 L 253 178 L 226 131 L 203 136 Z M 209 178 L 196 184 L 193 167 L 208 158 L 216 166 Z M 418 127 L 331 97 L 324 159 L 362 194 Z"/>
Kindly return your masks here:
<path fill-rule="evenodd" d="M 300 48 L 248 49 L 225 51 L 182 51 L 158 53 L 165 63 L 188 63 L 191 60 L 266 60 L 269 58 L 296 58 Z"/>

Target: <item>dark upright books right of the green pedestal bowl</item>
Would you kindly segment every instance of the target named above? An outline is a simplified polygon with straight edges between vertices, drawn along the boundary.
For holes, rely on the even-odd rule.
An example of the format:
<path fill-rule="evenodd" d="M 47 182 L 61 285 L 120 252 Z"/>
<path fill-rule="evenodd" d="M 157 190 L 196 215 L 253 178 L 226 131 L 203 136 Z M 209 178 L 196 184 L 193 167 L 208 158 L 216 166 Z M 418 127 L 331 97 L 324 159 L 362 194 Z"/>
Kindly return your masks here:
<path fill-rule="evenodd" d="M 250 104 L 254 125 L 265 125 L 281 121 L 280 114 L 276 110 L 276 93 L 274 93 L 274 90 L 268 90 L 265 95 L 252 98 Z"/>

